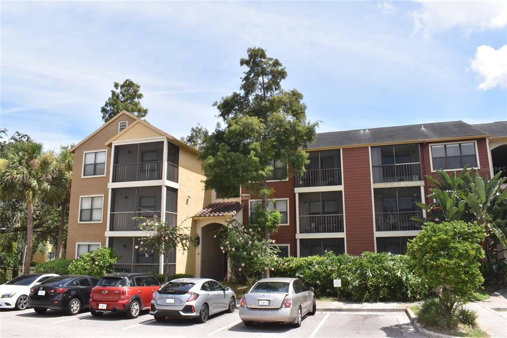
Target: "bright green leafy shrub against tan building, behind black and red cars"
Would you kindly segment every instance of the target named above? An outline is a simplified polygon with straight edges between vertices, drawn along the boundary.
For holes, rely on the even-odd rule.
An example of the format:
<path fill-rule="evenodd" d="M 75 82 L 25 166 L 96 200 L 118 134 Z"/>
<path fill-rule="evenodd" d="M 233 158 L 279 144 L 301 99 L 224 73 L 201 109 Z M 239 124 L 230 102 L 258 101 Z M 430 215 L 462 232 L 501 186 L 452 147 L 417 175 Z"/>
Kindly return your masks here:
<path fill-rule="evenodd" d="M 80 258 L 69 265 L 68 271 L 70 274 L 90 275 L 101 278 L 114 271 L 113 264 L 117 260 L 118 257 L 112 248 L 101 247 L 81 255 Z"/>

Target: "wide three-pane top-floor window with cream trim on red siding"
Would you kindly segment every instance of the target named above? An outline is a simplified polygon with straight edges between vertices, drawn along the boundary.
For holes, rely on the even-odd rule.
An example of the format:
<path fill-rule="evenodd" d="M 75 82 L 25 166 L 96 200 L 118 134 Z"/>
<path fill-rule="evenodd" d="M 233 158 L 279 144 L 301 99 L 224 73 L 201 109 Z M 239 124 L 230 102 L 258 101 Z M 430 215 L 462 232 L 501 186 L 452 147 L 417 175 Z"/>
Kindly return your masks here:
<path fill-rule="evenodd" d="M 431 146 L 431 157 L 433 170 L 460 169 L 465 165 L 477 167 L 477 154 L 474 142 Z"/>

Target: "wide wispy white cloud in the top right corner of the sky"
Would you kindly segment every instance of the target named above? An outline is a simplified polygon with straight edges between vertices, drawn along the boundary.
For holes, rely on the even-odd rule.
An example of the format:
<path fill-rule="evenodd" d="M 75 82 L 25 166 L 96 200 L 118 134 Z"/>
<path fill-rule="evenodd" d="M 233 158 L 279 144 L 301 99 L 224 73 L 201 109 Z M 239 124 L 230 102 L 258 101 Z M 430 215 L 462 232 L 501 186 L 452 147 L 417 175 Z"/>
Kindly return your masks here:
<path fill-rule="evenodd" d="M 507 25 L 507 1 L 419 2 L 421 8 L 410 13 L 414 18 L 415 32 L 459 27 L 465 33 L 470 33 Z"/>

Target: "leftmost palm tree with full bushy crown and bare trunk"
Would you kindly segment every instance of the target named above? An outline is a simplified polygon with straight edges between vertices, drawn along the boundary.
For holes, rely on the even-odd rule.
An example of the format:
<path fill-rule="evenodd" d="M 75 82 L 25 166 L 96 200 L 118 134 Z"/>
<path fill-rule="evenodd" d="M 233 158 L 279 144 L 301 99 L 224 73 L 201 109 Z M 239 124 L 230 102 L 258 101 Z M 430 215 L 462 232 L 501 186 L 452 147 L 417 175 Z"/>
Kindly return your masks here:
<path fill-rule="evenodd" d="M 43 152 L 42 143 L 16 142 L 0 162 L 2 200 L 19 198 L 26 202 L 26 255 L 24 273 L 29 273 L 33 242 L 33 205 L 54 198 L 60 189 L 53 184 L 55 156 Z"/>

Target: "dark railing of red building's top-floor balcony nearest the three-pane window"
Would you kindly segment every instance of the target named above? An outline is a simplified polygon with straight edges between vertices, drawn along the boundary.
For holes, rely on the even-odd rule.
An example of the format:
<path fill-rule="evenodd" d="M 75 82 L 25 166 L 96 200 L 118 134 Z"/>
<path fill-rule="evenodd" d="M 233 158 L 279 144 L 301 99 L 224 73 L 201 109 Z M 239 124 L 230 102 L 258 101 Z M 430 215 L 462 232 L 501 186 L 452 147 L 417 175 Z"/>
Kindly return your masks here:
<path fill-rule="evenodd" d="M 421 163 L 373 165 L 373 183 L 420 181 Z"/>

